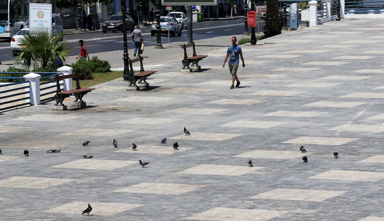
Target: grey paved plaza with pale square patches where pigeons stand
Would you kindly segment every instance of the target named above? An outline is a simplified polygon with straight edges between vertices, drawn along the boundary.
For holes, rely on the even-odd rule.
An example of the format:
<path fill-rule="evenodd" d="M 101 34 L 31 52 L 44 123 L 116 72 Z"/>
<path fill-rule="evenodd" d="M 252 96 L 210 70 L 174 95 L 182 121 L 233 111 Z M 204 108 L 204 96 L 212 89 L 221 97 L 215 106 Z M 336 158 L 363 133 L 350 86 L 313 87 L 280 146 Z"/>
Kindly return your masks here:
<path fill-rule="evenodd" d="M 243 46 L 233 90 L 223 48 L 202 72 L 158 67 L 151 90 L 117 79 L 83 110 L 9 111 L 1 220 L 382 221 L 383 30 L 331 22 Z M 88 203 L 93 216 L 81 216 Z"/>

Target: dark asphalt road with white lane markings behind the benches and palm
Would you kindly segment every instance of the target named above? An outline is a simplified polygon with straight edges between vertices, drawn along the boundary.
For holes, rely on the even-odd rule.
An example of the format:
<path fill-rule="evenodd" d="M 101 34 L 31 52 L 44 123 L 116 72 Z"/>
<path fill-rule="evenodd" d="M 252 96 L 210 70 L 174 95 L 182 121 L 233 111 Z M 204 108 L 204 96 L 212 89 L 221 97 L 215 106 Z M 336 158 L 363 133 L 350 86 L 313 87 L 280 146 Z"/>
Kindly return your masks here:
<path fill-rule="evenodd" d="M 263 31 L 263 22 L 260 22 L 260 32 Z M 244 33 L 244 20 L 219 20 L 219 21 L 207 21 L 193 23 L 193 39 L 206 39 L 214 38 L 218 36 L 236 35 Z M 156 44 L 156 36 L 151 36 L 150 28 L 142 28 L 143 38 L 146 46 L 152 46 Z M 249 28 L 249 32 L 250 32 Z M 132 42 L 131 32 L 128 31 L 128 49 L 134 48 Z M 106 51 L 122 50 L 123 38 L 122 33 L 108 32 L 106 34 L 101 32 L 90 32 L 86 34 L 74 34 L 65 36 L 65 40 L 73 48 L 71 55 L 78 55 L 80 39 L 84 40 L 84 45 L 87 47 L 88 53 L 98 53 Z M 185 41 L 187 42 L 187 30 L 182 31 L 181 36 L 169 37 L 169 42 Z M 161 42 L 163 44 L 168 43 L 168 36 L 162 35 Z M 16 56 L 12 55 L 12 51 L 9 48 L 9 42 L 0 42 L 0 59 L 2 61 L 14 61 Z"/>

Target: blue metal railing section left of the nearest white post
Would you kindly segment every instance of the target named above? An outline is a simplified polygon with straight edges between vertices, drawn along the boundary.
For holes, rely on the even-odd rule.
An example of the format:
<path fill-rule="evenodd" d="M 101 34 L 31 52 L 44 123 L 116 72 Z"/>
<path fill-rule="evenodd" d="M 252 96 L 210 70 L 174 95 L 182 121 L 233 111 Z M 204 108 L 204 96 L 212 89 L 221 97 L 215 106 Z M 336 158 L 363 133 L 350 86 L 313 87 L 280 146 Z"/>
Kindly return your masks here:
<path fill-rule="evenodd" d="M 1 87 L 8 87 L 8 86 L 13 86 L 13 85 L 18 85 L 18 84 L 22 84 L 22 83 L 29 83 L 29 82 L 30 82 L 29 80 L 26 80 L 26 81 L 22 81 L 22 82 L 7 83 L 7 84 L 0 85 L 0 88 Z M 23 89 L 26 89 L 26 88 L 29 88 L 29 86 L 24 86 L 24 87 L 19 87 L 19 88 L 13 88 L 13 89 L 10 89 L 10 90 L 0 91 L 0 95 L 5 94 L 5 93 L 9 93 L 9 92 L 13 92 L 13 91 L 17 91 L 17 90 L 23 90 Z M 29 94 L 29 91 L 13 93 L 11 95 L 2 96 L 2 97 L 0 97 L 0 101 L 5 99 L 5 98 L 16 97 L 16 96 L 20 96 L 20 95 L 24 95 L 24 94 Z M 14 99 L 14 100 L 9 100 L 9 101 L 3 101 L 3 102 L 0 103 L 0 111 L 8 110 L 8 109 L 11 109 L 11 108 L 16 108 L 16 107 L 19 107 L 19 106 L 30 105 L 31 104 L 30 102 L 25 102 L 25 103 L 21 103 L 21 104 L 17 104 L 17 105 L 2 107 L 2 105 L 6 105 L 6 104 L 9 104 L 9 103 L 14 103 L 14 102 L 17 102 L 17 101 L 22 101 L 22 100 L 28 100 L 28 99 L 30 99 L 29 96 L 26 96 L 26 97 L 23 97 L 23 98 Z"/>

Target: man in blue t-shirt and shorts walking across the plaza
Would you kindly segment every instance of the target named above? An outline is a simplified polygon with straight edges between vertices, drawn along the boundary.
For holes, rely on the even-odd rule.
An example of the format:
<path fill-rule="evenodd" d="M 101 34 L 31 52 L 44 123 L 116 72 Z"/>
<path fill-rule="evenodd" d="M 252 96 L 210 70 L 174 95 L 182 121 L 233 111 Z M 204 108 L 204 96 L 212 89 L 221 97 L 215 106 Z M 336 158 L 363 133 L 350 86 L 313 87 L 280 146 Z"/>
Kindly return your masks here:
<path fill-rule="evenodd" d="M 230 87 L 231 89 L 235 88 L 235 86 L 234 86 L 235 80 L 237 81 L 236 87 L 238 87 L 240 85 L 240 81 L 236 75 L 237 68 L 239 67 L 239 56 L 243 62 L 243 67 L 245 67 L 244 59 L 243 59 L 243 52 L 241 50 L 241 47 L 236 44 L 236 41 L 237 41 L 237 38 L 232 37 L 232 45 L 228 47 L 227 56 L 225 56 L 225 60 L 223 63 L 223 67 L 225 67 L 225 63 L 227 62 L 228 57 L 229 57 L 228 67 L 229 67 L 229 72 L 232 75 L 232 85 Z"/>

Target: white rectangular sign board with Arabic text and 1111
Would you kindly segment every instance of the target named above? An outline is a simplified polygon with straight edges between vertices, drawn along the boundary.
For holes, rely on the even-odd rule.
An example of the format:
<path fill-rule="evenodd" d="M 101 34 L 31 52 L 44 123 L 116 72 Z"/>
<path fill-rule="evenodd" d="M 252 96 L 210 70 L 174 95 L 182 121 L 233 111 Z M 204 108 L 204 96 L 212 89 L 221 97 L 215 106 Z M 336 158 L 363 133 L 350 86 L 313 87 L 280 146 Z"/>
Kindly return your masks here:
<path fill-rule="evenodd" d="M 52 4 L 29 4 L 29 29 L 52 31 Z"/>

